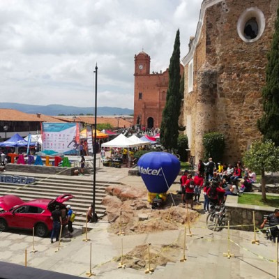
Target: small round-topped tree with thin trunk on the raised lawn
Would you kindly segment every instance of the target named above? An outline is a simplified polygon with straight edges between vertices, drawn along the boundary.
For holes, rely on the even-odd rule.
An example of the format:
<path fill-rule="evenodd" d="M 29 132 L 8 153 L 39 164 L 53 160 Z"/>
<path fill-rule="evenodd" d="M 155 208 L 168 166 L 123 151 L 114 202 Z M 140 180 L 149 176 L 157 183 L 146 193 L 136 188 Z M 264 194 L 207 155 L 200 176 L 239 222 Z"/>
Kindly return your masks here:
<path fill-rule="evenodd" d="M 254 142 L 244 154 L 243 162 L 246 167 L 261 174 L 262 200 L 266 201 L 265 172 L 277 172 L 279 170 L 279 147 L 271 140 Z"/>

